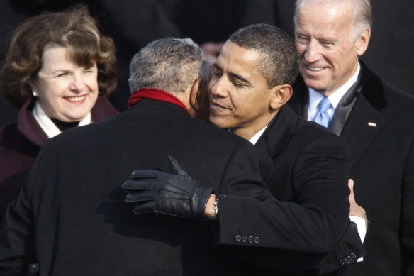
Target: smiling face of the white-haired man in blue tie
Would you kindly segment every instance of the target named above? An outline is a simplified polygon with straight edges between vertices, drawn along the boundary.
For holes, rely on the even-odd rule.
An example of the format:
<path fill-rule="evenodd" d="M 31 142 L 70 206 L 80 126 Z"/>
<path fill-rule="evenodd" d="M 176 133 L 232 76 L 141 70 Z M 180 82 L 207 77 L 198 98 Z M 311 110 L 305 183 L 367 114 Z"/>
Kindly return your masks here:
<path fill-rule="evenodd" d="M 298 8 L 295 44 L 306 86 L 329 96 L 357 70 L 364 53 L 355 40 L 353 4 L 305 3 Z"/>

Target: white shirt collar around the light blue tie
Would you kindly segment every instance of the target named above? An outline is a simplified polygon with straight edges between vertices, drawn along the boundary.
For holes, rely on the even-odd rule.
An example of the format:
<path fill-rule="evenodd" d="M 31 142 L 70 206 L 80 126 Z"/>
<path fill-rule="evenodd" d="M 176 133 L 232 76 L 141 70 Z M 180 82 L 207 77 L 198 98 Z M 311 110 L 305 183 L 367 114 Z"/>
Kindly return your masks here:
<path fill-rule="evenodd" d="M 330 103 L 332 104 L 332 107 L 328 109 L 327 111 L 328 114 L 330 115 L 330 118 L 332 118 L 335 109 L 337 108 L 338 104 L 340 103 L 340 100 L 342 99 L 342 96 L 344 96 L 345 93 L 347 93 L 349 88 L 351 88 L 355 82 L 357 82 L 358 74 L 360 70 L 361 70 L 361 67 L 359 66 L 359 63 L 358 63 L 357 71 L 355 71 L 352 77 L 347 82 L 345 82 L 345 84 L 342 85 L 342 87 L 337 89 L 337 91 L 335 91 L 334 93 L 332 93 L 332 95 L 328 97 Z M 322 101 L 322 99 L 323 99 L 323 94 L 320 94 L 319 92 L 316 92 L 315 90 L 309 87 L 309 104 L 308 104 L 308 120 L 309 121 L 311 121 L 313 117 L 315 117 L 316 113 L 318 112 L 318 105 L 320 101 Z"/>

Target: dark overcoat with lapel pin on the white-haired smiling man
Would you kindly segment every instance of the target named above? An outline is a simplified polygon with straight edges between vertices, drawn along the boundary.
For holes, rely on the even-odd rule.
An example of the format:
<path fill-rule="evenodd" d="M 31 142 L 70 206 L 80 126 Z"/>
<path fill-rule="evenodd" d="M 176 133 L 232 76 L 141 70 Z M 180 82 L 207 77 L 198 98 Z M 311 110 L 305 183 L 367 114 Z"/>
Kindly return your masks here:
<path fill-rule="evenodd" d="M 289 104 L 307 117 L 303 82 Z M 351 267 L 352 275 L 414 275 L 414 97 L 361 62 L 357 84 L 340 101 L 330 128 L 349 147 L 355 198 L 369 221 L 367 255 Z"/>

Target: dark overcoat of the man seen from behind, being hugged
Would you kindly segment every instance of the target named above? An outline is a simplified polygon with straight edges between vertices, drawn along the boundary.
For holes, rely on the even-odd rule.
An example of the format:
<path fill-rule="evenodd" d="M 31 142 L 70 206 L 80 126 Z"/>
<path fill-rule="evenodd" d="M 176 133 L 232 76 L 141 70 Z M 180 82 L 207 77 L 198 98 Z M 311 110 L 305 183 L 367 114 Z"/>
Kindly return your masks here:
<path fill-rule="evenodd" d="M 167 155 L 216 192 L 232 193 L 245 180 L 264 190 L 246 140 L 174 104 L 142 99 L 47 140 L 6 214 L 0 275 L 26 276 L 30 262 L 40 276 L 240 275 L 214 245 L 210 221 L 136 216 L 125 203 L 123 181 L 137 169 L 170 172 Z"/>

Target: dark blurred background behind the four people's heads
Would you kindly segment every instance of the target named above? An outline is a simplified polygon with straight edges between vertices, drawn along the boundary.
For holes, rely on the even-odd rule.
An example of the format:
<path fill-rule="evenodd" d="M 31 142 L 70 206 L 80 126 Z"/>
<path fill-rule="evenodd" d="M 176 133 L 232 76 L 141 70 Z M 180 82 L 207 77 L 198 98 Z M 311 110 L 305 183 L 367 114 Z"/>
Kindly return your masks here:
<path fill-rule="evenodd" d="M 252 23 L 272 23 L 293 38 L 294 0 L 1 0 L 0 65 L 11 34 L 26 18 L 84 3 L 101 31 L 115 40 L 118 88 L 109 99 L 123 111 L 130 96 L 130 58 L 152 40 L 190 37 L 206 51 Z M 362 60 L 376 74 L 414 94 L 414 13 L 409 0 L 373 0 L 372 35 Z M 413 106 L 414 108 L 414 106 Z M 16 121 L 17 109 L 0 96 L 0 126 Z"/>

